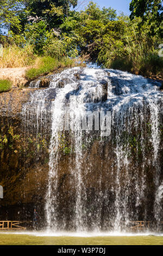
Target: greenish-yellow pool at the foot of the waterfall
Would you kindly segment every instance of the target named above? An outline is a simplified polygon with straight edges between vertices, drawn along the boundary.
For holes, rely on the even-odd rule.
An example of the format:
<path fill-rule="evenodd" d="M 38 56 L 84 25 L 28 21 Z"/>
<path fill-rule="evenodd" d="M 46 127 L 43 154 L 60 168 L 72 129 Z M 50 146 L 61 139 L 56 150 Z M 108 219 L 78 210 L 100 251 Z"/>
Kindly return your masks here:
<path fill-rule="evenodd" d="M 39 232 L 0 233 L 0 245 L 163 245 L 163 235 L 48 234 Z"/>

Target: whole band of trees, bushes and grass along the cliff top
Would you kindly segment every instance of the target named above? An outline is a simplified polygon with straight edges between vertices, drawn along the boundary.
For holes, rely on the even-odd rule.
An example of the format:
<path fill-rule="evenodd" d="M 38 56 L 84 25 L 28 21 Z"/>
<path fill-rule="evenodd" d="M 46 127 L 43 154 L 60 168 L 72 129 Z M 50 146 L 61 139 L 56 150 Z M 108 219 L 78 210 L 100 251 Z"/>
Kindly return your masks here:
<path fill-rule="evenodd" d="M 163 58 L 158 56 L 163 36 L 161 0 L 131 1 L 130 17 L 117 15 L 111 7 L 101 9 L 93 2 L 80 12 L 71 10 L 77 3 L 2 0 L 0 40 L 4 54 L 0 66 L 33 66 L 27 72 L 33 79 L 55 69 L 66 57 L 82 56 L 106 68 L 162 75 Z M 2 28 L 8 29 L 7 36 Z M 35 67 L 40 58 L 42 65 Z"/>

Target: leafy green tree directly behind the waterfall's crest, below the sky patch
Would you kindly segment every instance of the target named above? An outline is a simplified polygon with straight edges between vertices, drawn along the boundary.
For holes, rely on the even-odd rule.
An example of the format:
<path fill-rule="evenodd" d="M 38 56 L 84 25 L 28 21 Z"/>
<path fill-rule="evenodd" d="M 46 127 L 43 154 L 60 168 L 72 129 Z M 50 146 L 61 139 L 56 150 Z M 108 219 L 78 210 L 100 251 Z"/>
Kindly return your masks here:
<path fill-rule="evenodd" d="M 111 31 L 113 28 L 111 23 L 115 32 Z M 64 32 L 62 36 L 71 52 L 73 46 L 78 49 L 80 54 L 84 53 L 92 60 L 97 60 L 98 53 L 106 44 L 107 38 L 111 40 L 113 34 L 118 33 L 116 32 L 116 29 L 119 29 L 118 23 L 116 21 L 116 10 L 111 8 L 101 10 L 97 4 L 90 2 L 84 11 L 76 12 L 65 19 L 65 22 L 61 25 L 62 32 Z"/>

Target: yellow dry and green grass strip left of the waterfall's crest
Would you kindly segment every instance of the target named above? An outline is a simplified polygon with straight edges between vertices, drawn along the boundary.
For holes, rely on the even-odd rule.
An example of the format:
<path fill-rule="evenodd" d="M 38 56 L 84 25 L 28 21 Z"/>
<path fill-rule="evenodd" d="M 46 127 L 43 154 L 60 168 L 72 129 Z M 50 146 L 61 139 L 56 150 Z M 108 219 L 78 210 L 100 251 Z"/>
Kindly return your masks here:
<path fill-rule="evenodd" d="M 52 44 L 47 47 L 45 56 L 36 56 L 32 45 L 27 44 L 23 48 L 17 45 L 7 45 L 4 47 L 3 57 L 0 58 L 0 68 L 32 66 L 26 72 L 26 77 L 28 80 L 33 80 L 58 68 L 74 66 L 74 60 L 63 57 L 64 50 L 61 51 L 60 48 L 61 45 L 54 47 Z"/>

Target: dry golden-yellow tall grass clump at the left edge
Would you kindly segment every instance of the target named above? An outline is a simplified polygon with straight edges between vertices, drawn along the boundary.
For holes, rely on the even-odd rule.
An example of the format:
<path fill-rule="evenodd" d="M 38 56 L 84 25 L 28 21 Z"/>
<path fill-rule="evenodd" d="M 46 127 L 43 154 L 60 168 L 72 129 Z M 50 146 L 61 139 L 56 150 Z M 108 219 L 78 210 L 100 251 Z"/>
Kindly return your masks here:
<path fill-rule="evenodd" d="M 24 48 L 8 45 L 4 47 L 3 57 L 0 58 L 0 68 L 22 68 L 32 65 L 35 58 L 33 47 L 29 44 Z"/>

